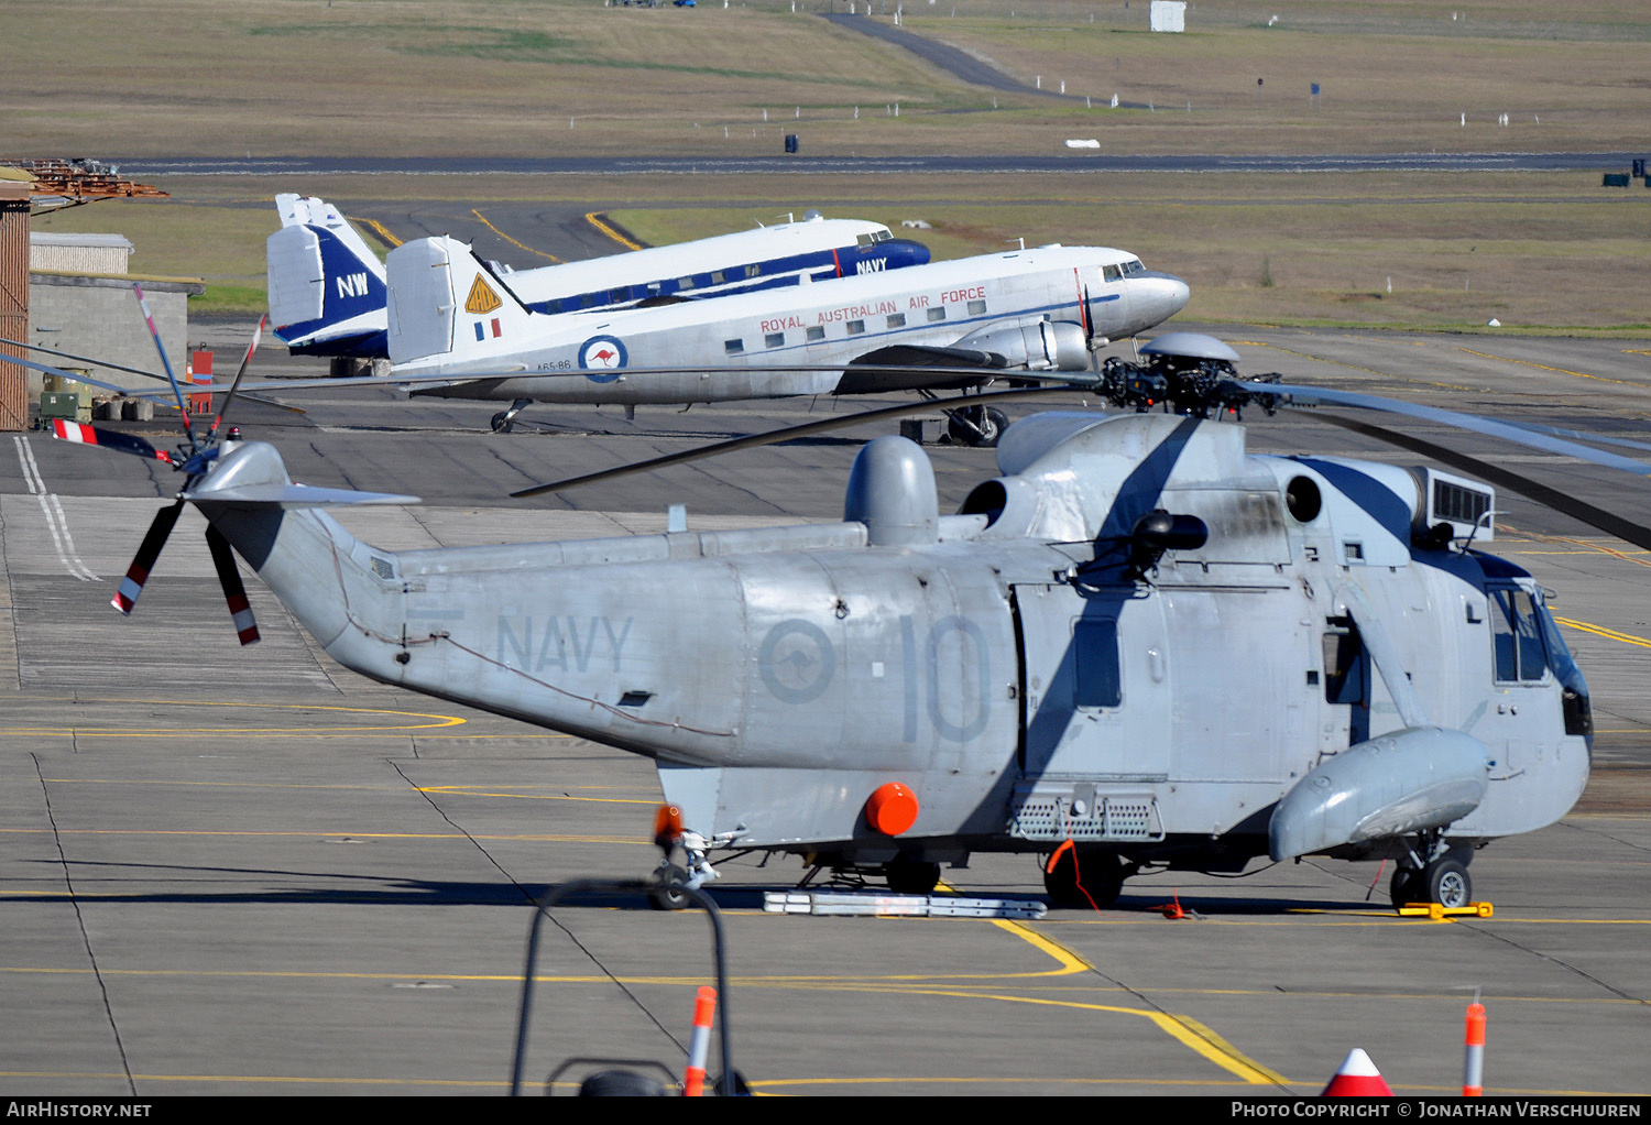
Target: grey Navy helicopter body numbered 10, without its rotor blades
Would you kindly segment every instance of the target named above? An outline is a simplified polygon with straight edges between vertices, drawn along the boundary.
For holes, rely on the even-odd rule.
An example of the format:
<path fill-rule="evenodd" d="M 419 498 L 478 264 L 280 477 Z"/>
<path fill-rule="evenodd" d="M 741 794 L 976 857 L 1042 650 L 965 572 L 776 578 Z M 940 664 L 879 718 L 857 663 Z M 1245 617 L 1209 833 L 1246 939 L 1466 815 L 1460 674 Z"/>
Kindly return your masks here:
<path fill-rule="evenodd" d="M 887 436 L 839 524 L 411 552 L 261 443 L 185 499 L 342 664 L 654 758 L 695 882 L 720 849 L 901 889 L 1024 851 L 1100 905 L 1329 854 L 1453 904 L 1582 793 L 1587 686 L 1479 548 L 1489 487 L 1174 415 L 1035 415 L 997 463 L 954 515 Z"/>

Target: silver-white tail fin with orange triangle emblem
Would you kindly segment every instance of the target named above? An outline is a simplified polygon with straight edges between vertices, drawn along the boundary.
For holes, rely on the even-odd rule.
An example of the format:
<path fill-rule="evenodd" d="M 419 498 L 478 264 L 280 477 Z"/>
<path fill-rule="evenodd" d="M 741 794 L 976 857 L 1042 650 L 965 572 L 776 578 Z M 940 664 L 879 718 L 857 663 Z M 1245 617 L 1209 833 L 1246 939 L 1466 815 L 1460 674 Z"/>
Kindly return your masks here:
<path fill-rule="evenodd" d="M 419 238 L 390 251 L 390 362 L 485 362 L 525 340 L 533 314 L 464 243 Z"/>

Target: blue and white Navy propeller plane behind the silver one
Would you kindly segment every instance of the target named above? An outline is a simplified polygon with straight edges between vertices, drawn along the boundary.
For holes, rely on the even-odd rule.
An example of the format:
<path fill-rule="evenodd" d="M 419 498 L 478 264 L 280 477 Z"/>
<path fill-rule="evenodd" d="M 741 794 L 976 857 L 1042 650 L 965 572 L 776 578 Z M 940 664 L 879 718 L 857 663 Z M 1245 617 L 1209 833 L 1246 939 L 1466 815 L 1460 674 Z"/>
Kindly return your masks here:
<path fill-rule="evenodd" d="M 300 355 L 388 360 L 385 266 L 378 254 L 325 200 L 281 193 L 276 211 L 281 230 L 264 243 L 276 335 Z M 926 246 L 895 238 L 882 223 L 807 211 L 799 223 L 542 269 L 497 266 L 495 274 L 523 306 L 553 314 L 750 292 L 921 266 L 928 259 Z M 378 373 L 388 373 L 388 362 L 383 368 Z"/>

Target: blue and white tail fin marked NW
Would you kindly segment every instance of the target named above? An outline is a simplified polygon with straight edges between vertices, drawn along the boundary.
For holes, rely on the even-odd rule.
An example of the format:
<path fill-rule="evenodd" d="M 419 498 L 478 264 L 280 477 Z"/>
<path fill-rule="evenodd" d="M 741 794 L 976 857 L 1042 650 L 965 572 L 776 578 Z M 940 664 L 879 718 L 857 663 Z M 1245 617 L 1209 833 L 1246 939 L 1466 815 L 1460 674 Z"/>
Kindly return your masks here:
<path fill-rule="evenodd" d="M 264 243 L 269 319 L 294 350 L 385 354 L 385 266 L 337 208 L 276 197 L 281 230 Z"/>

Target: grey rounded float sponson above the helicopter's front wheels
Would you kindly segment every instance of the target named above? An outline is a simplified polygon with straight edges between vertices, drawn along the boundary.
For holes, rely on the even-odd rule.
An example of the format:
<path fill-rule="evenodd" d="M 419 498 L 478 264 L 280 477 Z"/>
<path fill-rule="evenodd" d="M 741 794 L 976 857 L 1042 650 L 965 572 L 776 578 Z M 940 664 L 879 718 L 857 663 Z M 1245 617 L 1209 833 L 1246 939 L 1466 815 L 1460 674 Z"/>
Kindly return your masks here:
<path fill-rule="evenodd" d="M 1273 809 L 1275 861 L 1445 828 L 1489 788 L 1484 743 L 1459 730 L 1410 727 L 1321 762 Z"/>

